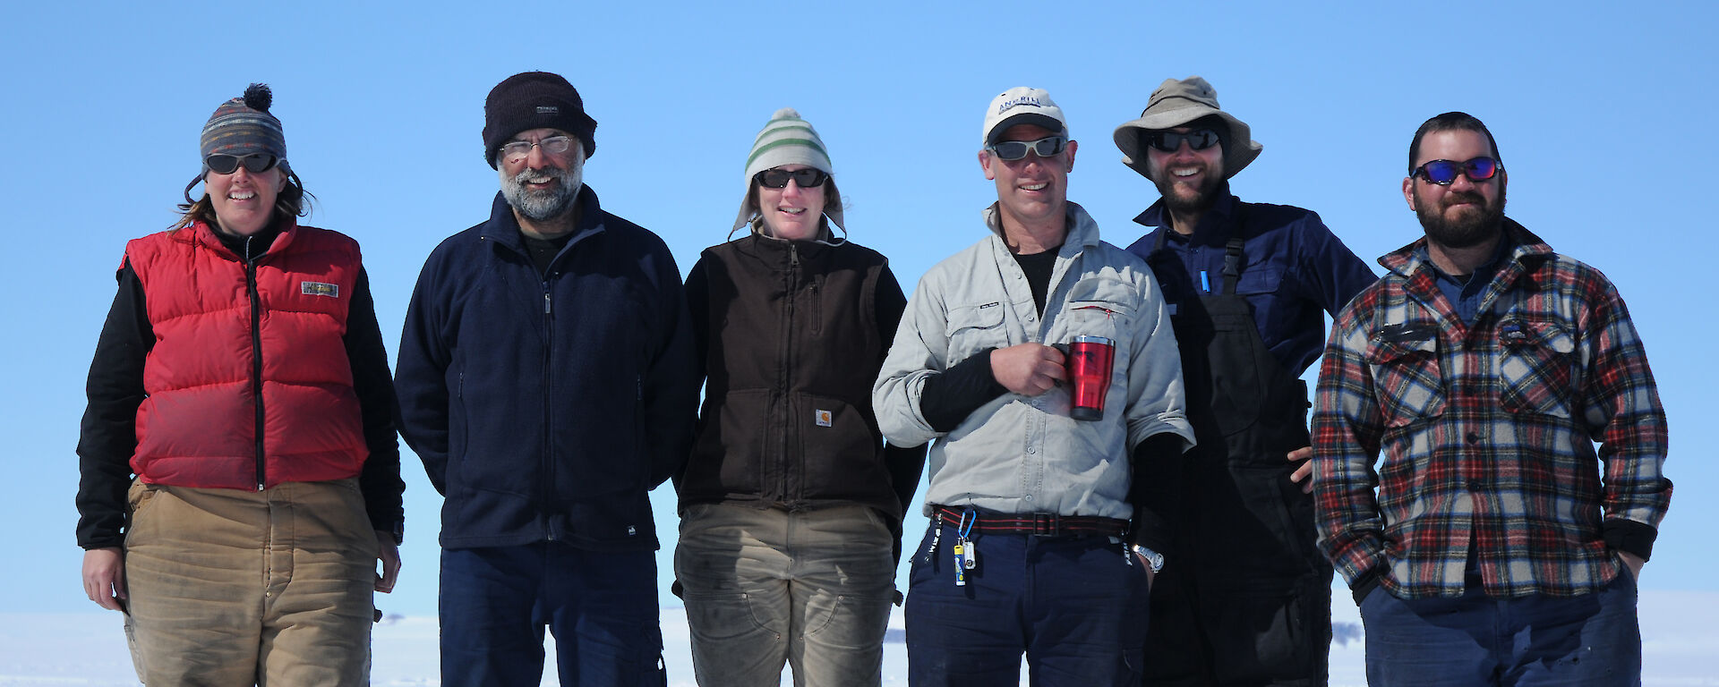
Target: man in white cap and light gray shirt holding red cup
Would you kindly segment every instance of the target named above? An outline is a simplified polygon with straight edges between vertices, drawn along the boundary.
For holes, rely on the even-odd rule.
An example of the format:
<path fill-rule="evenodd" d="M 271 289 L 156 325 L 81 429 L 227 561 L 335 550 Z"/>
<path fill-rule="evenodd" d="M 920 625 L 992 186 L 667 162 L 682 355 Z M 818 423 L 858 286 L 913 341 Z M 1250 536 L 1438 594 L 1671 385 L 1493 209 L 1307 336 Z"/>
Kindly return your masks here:
<path fill-rule="evenodd" d="M 1135 508 L 1133 462 L 1193 443 L 1176 338 L 1147 264 L 1067 203 L 1078 146 L 1050 94 L 999 94 L 982 143 L 990 235 L 920 280 L 872 392 L 890 443 L 937 440 L 909 682 L 1012 685 L 1025 651 L 1035 685 L 1135 685 L 1167 532 Z M 1095 421 L 1069 414 L 1074 337 L 1116 349 Z"/>

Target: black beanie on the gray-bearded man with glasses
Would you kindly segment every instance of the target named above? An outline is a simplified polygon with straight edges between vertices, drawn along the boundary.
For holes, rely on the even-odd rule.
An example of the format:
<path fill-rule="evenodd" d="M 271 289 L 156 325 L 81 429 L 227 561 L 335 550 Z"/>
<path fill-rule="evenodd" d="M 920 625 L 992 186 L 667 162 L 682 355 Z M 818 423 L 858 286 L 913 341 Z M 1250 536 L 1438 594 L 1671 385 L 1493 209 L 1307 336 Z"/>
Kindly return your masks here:
<path fill-rule="evenodd" d="M 584 156 L 596 153 L 596 120 L 584 113 L 579 91 L 550 72 L 523 72 L 490 89 L 483 101 L 483 160 L 495 167 L 495 153 L 521 131 L 560 129 L 579 137 Z"/>

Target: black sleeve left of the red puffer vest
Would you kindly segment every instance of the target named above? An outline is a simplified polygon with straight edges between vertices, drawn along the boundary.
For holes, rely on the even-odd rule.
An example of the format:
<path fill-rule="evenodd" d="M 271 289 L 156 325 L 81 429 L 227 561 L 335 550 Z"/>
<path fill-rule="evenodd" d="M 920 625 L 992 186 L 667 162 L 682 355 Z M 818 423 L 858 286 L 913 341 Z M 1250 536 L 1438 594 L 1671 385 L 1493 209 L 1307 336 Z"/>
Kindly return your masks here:
<path fill-rule="evenodd" d="M 77 546 L 125 544 L 131 455 L 138 450 L 143 361 L 155 328 L 143 302 L 143 282 L 131 263 L 119 268 L 119 292 L 108 307 L 84 392 L 89 405 L 77 433 Z"/>

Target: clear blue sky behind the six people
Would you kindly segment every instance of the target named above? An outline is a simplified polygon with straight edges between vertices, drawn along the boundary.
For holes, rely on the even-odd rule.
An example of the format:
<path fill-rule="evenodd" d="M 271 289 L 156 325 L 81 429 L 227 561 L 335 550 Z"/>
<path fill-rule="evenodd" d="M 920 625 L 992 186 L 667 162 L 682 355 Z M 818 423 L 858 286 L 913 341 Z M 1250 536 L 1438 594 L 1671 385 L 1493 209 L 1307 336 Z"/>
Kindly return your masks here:
<path fill-rule="evenodd" d="M 1420 235 L 1399 184 L 1415 127 L 1465 110 L 1511 170 L 1508 213 L 1609 275 L 1671 416 L 1676 481 L 1642 586 L 1716 591 L 1719 416 L 1702 210 L 1719 53 L 1707 3 L 26 3 L 0 27 L 3 460 L 0 611 L 95 611 L 74 544 L 83 383 L 127 239 L 165 228 L 198 131 L 251 81 L 275 89 L 306 220 L 364 247 L 390 354 L 423 258 L 486 216 L 483 96 L 567 76 L 598 120 L 586 182 L 658 232 L 681 270 L 722 242 L 758 127 L 794 106 L 823 136 L 853 239 L 904 285 L 983 237 L 985 103 L 1050 91 L 1081 143 L 1069 198 L 1126 246 L 1157 194 L 1110 131 L 1165 77 L 1200 74 L 1263 155 L 1250 201 L 1318 211 L 1372 261 Z M 1375 7 L 1377 5 L 1377 7 Z M 980 9 L 983 7 L 983 9 Z M 1370 263 L 1372 264 L 1372 263 Z M 435 611 L 440 498 L 407 452 L 407 544 L 392 613 Z M 923 491 L 923 489 L 921 489 Z M 662 489 L 667 568 L 676 517 Z M 923 520 L 909 520 L 908 531 Z M 909 534 L 913 536 L 913 534 Z M 664 582 L 667 587 L 667 582 Z M 1341 596 L 1339 596 L 1341 601 Z"/>

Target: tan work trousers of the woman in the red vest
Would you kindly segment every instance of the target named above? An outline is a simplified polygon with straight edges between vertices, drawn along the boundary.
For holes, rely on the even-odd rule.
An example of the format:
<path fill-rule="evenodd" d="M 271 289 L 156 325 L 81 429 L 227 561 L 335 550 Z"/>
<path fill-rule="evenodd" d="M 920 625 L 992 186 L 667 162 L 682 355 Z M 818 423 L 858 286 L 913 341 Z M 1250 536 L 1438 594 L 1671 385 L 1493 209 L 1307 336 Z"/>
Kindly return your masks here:
<path fill-rule="evenodd" d="M 134 660 L 156 685 L 366 685 L 375 532 L 356 479 L 132 484 Z"/>

